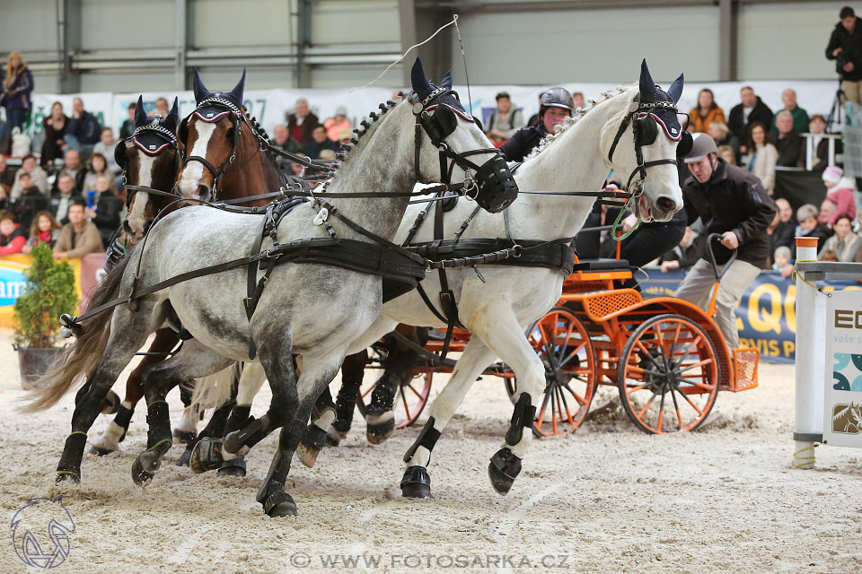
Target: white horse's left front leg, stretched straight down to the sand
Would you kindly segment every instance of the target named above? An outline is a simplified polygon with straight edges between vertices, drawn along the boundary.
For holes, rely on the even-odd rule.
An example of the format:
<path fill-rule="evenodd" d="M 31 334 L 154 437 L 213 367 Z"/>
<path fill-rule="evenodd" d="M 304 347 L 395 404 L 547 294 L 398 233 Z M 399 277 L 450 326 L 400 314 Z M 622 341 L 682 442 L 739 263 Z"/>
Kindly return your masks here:
<path fill-rule="evenodd" d="M 404 462 L 408 466 L 401 479 L 401 496 L 414 499 L 431 497 L 431 478 L 427 471 L 431 450 L 440 438 L 446 423 L 464 400 L 473 381 L 482 374 L 491 361 L 494 361 L 495 356 L 495 353 L 476 337 L 464 347 L 449 384 L 431 404 L 430 415 L 425 426 L 422 427 L 413 446 L 404 455 Z"/>

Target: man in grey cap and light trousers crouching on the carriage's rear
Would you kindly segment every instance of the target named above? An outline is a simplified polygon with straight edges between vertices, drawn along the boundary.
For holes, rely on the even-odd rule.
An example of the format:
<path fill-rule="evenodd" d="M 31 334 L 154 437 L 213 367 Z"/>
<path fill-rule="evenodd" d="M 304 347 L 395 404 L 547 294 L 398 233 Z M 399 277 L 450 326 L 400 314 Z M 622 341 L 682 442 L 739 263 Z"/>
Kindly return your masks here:
<path fill-rule="evenodd" d="M 761 180 L 742 168 L 717 157 L 716 142 L 709 135 L 695 134 L 685 163 L 691 177 L 682 184 L 682 197 L 688 224 L 698 218 L 708 233 L 721 236 L 721 245 L 708 244 L 724 265 L 736 249 L 736 259 L 718 283 L 716 323 L 731 349 L 739 347 L 734 311 L 743 293 L 766 267 L 770 256 L 770 236 L 766 229 L 775 218 L 775 204 Z M 707 309 L 716 275 L 708 253 L 698 262 L 676 290 L 676 296 Z"/>

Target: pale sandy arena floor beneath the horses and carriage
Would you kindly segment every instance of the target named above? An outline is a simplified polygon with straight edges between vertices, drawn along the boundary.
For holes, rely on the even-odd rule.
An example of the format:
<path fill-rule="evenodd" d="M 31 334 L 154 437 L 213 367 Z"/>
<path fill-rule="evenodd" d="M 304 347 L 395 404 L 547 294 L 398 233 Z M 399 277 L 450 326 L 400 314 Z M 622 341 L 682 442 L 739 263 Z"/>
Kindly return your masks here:
<path fill-rule="evenodd" d="M 862 571 L 862 456 L 818 448 L 816 470 L 791 469 L 792 366 L 761 363 L 761 387 L 719 395 L 721 417 L 704 431 L 647 436 L 620 409 L 534 441 L 506 498 L 486 468 L 512 407 L 499 379 L 484 378 L 435 448 L 434 500 L 400 499 L 400 457 L 418 429 L 371 446 L 359 421 L 315 468 L 295 461 L 288 490 L 300 516 L 281 519 L 254 500 L 274 436 L 252 451 L 245 478 L 192 474 L 173 465 L 174 447 L 154 482 L 136 487 L 144 408 L 123 452 L 86 456 L 80 487 L 54 487 L 72 395 L 25 418 L 5 333 L 0 367 L 0 504 L 11 520 L 28 499 L 64 495 L 76 529 L 57 572 Z M 259 396 L 252 413 L 267 403 Z M 176 392 L 171 404 L 176 420 Z M 37 571 L 13 552 L 11 530 L 3 540 L 0 572 Z"/>

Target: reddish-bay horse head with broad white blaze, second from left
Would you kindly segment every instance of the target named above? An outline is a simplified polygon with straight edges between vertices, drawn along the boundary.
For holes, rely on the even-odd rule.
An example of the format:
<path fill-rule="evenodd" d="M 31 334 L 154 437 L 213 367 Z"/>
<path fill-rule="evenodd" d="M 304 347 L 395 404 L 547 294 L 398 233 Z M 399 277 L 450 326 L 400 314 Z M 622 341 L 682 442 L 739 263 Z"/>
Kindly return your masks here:
<path fill-rule="evenodd" d="M 244 90 L 245 70 L 231 91 L 207 90 L 195 70 L 198 107 L 180 122 L 178 134 L 189 150 L 178 184 L 183 197 L 207 200 L 216 196 L 219 179 L 233 161 L 258 151 L 254 129 L 242 106 Z"/>

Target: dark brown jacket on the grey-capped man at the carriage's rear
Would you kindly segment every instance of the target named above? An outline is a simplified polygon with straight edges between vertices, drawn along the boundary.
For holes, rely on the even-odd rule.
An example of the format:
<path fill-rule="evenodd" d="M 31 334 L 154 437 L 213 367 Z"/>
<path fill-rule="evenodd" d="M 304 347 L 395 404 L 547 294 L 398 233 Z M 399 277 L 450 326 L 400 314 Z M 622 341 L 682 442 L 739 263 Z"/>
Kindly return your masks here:
<path fill-rule="evenodd" d="M 739 238 L 736 257 L 766 267 L 771 255 L 766 230 L 775 218 L 776 209 L 760 179 L 719 159 L 706 183 L 700 183 L 694 176 L 686 178 L 682 194 L 689 225 L 700 218 L 707 233 L 733 231 Z M 730 250 L 723 246 L 717 246 L 715 253 L 719 265 L 730 258 Z"/>

